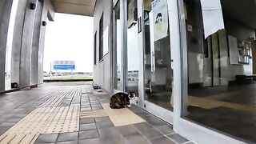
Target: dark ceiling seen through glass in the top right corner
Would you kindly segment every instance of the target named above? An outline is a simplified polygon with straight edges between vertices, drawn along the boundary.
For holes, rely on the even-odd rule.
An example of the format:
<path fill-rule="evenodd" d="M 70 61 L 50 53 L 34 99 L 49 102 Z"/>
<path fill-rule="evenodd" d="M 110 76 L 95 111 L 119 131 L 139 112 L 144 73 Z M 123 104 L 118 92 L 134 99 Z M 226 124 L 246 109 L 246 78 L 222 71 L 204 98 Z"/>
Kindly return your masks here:
<path fill-rule="evenodd" d="M 226 16 L 256 29 L 256 0 L 221 0 Z"/>

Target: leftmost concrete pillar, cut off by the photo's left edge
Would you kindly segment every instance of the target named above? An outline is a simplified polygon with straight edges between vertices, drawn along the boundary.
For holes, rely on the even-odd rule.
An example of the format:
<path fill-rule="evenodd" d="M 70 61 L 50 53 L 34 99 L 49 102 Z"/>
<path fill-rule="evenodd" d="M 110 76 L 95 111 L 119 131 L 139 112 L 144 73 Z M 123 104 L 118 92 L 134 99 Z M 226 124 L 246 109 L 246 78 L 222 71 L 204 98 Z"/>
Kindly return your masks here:
<path fill-rule="evenodd" d="M 0 93 L 5 91 L 6 42 L 12 3 L 12 0 L 0 1 Z"/>

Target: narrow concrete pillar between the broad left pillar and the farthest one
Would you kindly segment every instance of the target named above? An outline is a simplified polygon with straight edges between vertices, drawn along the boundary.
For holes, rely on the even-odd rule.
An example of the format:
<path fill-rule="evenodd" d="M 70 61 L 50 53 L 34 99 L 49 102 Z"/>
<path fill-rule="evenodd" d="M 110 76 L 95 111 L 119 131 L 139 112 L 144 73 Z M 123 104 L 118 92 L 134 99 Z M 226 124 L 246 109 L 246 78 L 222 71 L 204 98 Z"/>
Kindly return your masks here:
<path fill-rule="evenodd" d="M 30 86 L 38 85 L 38 46 L 42 25 L 42 1 L 38 1 L 34 20 L 33 42 L 30 62 Z"/>

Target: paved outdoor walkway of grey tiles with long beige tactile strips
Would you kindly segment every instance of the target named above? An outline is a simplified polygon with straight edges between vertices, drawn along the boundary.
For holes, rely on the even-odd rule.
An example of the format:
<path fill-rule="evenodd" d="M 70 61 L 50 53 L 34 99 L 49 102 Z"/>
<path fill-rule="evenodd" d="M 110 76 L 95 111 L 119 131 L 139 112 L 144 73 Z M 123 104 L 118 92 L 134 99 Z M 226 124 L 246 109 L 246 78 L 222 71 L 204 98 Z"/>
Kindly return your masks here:
<path fill-rule="evenodd" d="M 193 143 L 137 106 L 130 110 L 146 122 L 115 126 L 107 115 L 84 115 L 103 110 L 109 100 L 91 82 L 47 83 L 1 95 L 0 143 Z"/>

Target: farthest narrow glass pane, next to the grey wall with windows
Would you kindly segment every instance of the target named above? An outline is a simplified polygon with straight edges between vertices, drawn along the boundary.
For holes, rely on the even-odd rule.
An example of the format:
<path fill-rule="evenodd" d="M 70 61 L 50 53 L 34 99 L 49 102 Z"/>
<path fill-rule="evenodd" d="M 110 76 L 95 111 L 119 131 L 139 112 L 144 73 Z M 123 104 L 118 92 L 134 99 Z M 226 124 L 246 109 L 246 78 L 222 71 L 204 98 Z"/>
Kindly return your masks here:
<path fill-rule="evenodd" d="M 121 20 L 120 2 L 114 7 L 114 89 L 121 90 Z"/>

